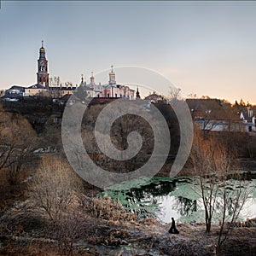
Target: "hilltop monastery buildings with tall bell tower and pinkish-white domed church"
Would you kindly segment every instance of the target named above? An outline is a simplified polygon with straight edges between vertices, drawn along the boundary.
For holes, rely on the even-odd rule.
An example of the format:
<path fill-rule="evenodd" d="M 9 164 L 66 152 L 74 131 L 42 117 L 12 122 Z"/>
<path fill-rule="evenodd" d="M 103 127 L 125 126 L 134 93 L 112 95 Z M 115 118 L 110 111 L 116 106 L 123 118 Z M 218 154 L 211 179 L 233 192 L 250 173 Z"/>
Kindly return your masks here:
<path fill-rule="evenodd" d="M 58 78 L 57 84 L 52 84 L 53 79 L 49 79 L 48 73 L 48 61 L 46 59 L 46 50 L 44 49 L 44 41 L 42 41 L 42 47 L 39 49 L 38 58 L 38 72 L 37 72 L 37 84 L 33 84 L 29 87 L 23 87 L 14 85 L 9 90 L 6 90 L 6 100 L 10 98 L 19 99 L 26 96 L 51 96 L 54 99 L 60 99 L 62 96 L 72 95 L 78 88 L 78 85 L 73 86 L 72 83 L 60 83 Z M 129 100 L 135 100 L 135 90 L 132 90 L 129 86 L 124 84 L 117 84 L 115 73 L 113 72 L 113 66 L 109 73 L 108 84 L 96 84 L 93 73 L 90 76 L 90 84 L 86 84 L 84 76 L 82 75 L 80 87 L 85 92 L 85 97 L 97 97 L 97 98 L 125 98 Z"/>

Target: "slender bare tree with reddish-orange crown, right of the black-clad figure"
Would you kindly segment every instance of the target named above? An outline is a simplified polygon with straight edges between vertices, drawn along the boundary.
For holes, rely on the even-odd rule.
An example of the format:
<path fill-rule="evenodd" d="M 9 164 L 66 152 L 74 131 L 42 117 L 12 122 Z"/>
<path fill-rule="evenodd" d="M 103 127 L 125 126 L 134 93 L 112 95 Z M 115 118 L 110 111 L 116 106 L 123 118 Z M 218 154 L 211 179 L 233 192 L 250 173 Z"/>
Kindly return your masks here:
<path fill-rule="evenodd" d="M 219 180 L 230 172 L 231 156 L 214 137 L 207 139 L 195 129 L 190 154 L 195 176 L 199 177 L 201 199 L 205 209 L 206 231 L 212 226 L 212 216 L 218 203 Z"/>

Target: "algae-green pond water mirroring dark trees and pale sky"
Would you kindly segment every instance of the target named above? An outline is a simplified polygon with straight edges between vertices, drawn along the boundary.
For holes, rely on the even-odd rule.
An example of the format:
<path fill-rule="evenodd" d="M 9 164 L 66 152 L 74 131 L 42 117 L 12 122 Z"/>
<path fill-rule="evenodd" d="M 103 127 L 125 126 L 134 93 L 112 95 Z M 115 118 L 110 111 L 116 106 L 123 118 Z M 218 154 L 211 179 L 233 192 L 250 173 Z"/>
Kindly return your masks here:
<path fill-rule="evenodd" d="M 255 180 L 252 180 L 255 191 Z M 136 212 L 139 217 L 154 215 L 163 222 L 169 223 L 171 218 L 181 221 L 204 221 L 204 212 L 199 191 L 195 189 L 195 180 L 190 177 L 154 178 L 151 183 L 124 190 L 108 190 L 108 195 L 120 201 L 130 212 Z M 255 192 L 253 192 L 255 194 Z M 247 200 L 241 211 L 242 218 L 256 217 L 255 195 Z M 221 195 L 219 195 L 221 197 Z M 230 197 L 228 213 L 234 211 L 235 201 Z M 220 201 L 216 213 L 221 213 Z M 217 214 L 218 215 L 218 214 Z"/>

